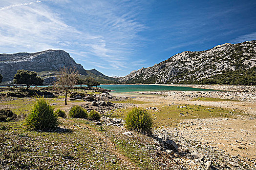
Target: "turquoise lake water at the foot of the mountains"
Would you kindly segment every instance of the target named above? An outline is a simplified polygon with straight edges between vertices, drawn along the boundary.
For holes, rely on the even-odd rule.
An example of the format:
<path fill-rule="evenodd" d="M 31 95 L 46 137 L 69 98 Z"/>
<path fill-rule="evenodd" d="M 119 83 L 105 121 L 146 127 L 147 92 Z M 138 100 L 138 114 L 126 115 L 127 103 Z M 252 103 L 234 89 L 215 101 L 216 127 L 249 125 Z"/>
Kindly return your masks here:
<path fill-rule="evenodd" d="M 166 85 L 100 85 L 102 88 L 114 90 L 115 93 L 132 91 L 218 91 L 212 89 L 192 88 Z M 114 93 L 112 92 L 112 93 Z"/>

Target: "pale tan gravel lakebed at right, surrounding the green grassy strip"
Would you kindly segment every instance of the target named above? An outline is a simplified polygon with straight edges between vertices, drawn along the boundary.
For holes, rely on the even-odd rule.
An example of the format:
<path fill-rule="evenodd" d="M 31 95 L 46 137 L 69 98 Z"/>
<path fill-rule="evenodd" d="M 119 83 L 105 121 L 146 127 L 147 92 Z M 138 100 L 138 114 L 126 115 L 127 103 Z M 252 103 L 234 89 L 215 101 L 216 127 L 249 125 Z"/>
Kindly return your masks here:
<path fill-rule="evenodd" d="M 186 85 L 187 86 L 187 85 Z M 191 86 L 191 85 L 188 85 Z M 196 88 L 234 90 L 232 92 L 140 92 L 140 94 L 160 94 L 155 98 L 136 100 L 163 103 L 197 104 L 239 110 L 235 119 L 186 119 L 178 126 L 160 128 L 155 131 L 162 136 L 170 136 L 174 141 L 204 157 L 195 159 L 205 166 L 211 161 L 215 169 L 256 169 L 256 94 L 254 86 L 208 86 L 192 85 Z M 234 111 L 235 111 L 234 110 Z M 212 153 L 209 153 L 209 152 Z M 189 154 L 189 155 L 190 155 Z M 194 153 L 193 153 L 194 154 Z M 197 156 L 200 157 L 200 156 Z M 212 167 L 212 169 L 214 169 Z"/>

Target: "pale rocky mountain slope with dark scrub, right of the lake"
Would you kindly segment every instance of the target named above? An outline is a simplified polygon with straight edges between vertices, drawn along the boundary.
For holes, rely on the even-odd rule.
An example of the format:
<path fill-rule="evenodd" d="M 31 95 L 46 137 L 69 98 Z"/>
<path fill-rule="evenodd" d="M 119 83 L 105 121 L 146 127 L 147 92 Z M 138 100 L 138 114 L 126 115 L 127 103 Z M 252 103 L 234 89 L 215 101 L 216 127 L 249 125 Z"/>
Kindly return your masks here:
<path fill-rule="evenodd" d="M 119 82 L 256 84 L 256 41 L 226 43 L 206 51 L 184 51 L 152 67 L 132 71 Z"/>

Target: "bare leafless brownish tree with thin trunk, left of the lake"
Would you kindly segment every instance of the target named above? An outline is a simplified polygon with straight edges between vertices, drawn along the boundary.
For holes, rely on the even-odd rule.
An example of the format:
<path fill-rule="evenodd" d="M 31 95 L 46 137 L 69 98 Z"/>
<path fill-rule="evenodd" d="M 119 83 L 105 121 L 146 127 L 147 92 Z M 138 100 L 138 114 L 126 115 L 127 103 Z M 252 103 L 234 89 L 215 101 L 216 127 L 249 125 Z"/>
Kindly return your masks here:
<path fill-rule="evenodd" d="M 66 98 L 67 98 L 67 91 L 68 88 L 73 87 L 77 84 L 77 76 L 78 71 L 76 68 L 60 68 L 60 72 L 57 75 L 57 81 L 55 82 L 55 85 L 61 89 L 65 90 L 65 105 Z"/>

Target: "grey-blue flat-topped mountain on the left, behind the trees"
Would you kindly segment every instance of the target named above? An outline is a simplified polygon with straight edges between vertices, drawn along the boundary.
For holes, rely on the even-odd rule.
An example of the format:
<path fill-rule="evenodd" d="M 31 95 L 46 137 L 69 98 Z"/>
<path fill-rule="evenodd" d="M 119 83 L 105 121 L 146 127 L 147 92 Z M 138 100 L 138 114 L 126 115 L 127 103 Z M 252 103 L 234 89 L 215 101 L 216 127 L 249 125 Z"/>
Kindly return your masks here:
<path fill-rule="evenodd" d="M 116 80 L 105 76 L 96 69 L 85 70 L 77 64 L 70 55 L 62 50 L 47 50 L 36 53 L 20 52 L 15 54 L 0 54 L 0 74 L 3 82 L 13 80 L 18 69 L 36 71 L 45 83 L 52 83 L 59 68 L 74 67 L 84 76 L 95 78 L 101 83 L 114 83 Z"/>

